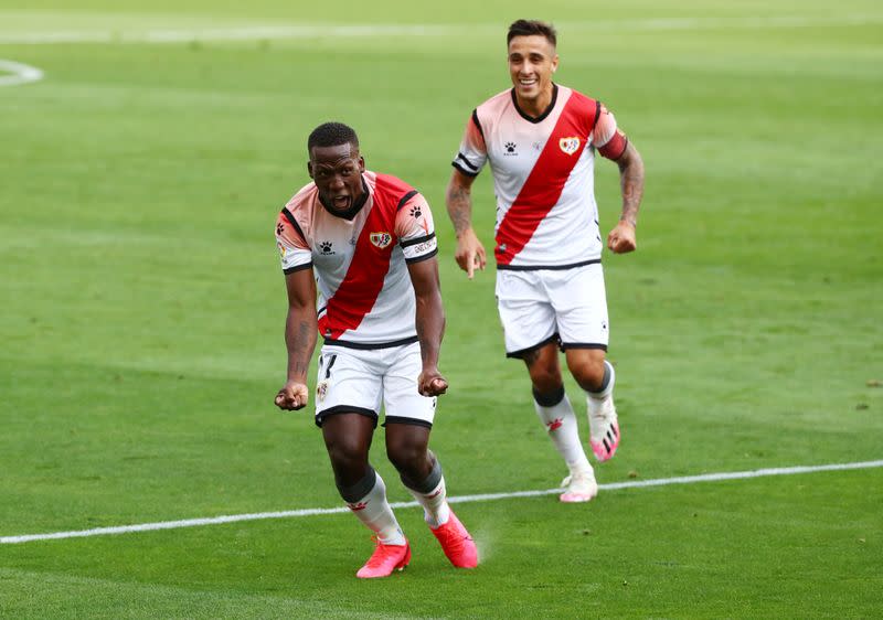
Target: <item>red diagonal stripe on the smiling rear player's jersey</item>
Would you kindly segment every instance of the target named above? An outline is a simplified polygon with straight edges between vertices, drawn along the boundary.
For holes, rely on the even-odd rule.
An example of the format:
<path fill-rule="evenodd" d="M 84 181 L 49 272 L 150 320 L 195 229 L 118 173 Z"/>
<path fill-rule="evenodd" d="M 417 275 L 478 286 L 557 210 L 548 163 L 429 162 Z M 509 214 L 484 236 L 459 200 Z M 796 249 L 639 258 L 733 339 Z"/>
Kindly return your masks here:
<path fill-rule="evenodd" d="M 579 161 L 588 135 L 595 125 L 595 108 L 598 104 L 585 95 L 574 92 L 564 104 L 564 109 L 549 136 L 533 170 L 524 181 L 515 201 L 497 228 L 498 265 L 509 265 L 533 236 L 540 222 L 558 202 L 571 171 Z M 562 138 L 578 137 L 579 148 L 567 154 L 561 148 Z"/>

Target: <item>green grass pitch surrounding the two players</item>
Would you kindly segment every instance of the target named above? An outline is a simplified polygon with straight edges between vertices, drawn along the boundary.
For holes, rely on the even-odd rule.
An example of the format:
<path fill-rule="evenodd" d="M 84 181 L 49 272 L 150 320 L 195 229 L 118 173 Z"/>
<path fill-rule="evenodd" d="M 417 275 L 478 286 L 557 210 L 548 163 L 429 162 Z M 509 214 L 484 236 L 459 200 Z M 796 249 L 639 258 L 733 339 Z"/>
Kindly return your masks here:
<path fill-rule="evenodd" d="M 883 459 L 879 2 L 2 0 L 0 60 L 44 78 L 0 87 L 0 536 L 341 505 L 311 413 L 273 406 L 273 225 L 328 119 L 434 207 L 451 494 L 556 487 L 493 270 L 456 268 L 444 210 L 521 17 L 647 167 L 639 249 L 605 255 L 624 440 L 599 481 Z M 475 195 L 490 245 L 488 173 Z M 883 616 L 881 469 L 457 511 L 478 569 L 402 509 L 414 559 L 374 582 L 348 514 L 0 544 L 0 617 Z"/>

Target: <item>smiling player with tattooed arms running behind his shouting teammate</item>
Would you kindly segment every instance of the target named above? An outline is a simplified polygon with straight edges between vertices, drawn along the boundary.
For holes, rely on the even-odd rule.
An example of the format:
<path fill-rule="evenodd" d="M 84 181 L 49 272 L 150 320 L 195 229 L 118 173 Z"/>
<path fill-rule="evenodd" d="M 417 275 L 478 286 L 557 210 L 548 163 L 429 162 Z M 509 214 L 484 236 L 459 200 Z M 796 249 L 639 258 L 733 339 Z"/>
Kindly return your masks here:
<path fill-rule="evenodd" d="M 528 366 L 538 416 L 570 469 L 562 502 L 598 492 L 564 393 L 558 348 L 586 392 L 589 443 L 599 461 L 619 445 L 614 368 L 606 361 L 607 300 L 594 195 L 595 152 L 619 165 L 623 213 L 607 236 L 620 254 L 636 248 L 643 163 L 600 101 L 555 84 L 555 30 L 518 20 L 509 28 L 512 88 L 478 106 L 466 124 L 447 188 L 457 264 L 471 279 L 487 263 L 471 225 L 470 189 L 489 162 L 497 195 L 497 300 L 506 352 Z"/>

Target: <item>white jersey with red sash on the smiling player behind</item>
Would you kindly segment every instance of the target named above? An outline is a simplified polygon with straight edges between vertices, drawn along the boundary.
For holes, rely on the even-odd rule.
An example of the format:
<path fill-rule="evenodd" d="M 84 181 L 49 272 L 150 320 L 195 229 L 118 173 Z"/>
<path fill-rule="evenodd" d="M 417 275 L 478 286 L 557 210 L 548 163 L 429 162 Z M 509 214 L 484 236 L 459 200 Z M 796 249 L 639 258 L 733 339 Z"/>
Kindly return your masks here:
<path fill-rule="evenodd" d="M 538 118 L 518 107 L 514 89 L 472 111 L 453 164 L 475 177 L 490 163 L 498 269 L 564 269 L 600 260 L 596 148 L 617 159 L 626 139 L 599 101 L 564 86 L 554 85 L 552 103 Z"/>

